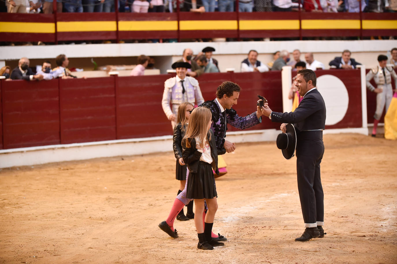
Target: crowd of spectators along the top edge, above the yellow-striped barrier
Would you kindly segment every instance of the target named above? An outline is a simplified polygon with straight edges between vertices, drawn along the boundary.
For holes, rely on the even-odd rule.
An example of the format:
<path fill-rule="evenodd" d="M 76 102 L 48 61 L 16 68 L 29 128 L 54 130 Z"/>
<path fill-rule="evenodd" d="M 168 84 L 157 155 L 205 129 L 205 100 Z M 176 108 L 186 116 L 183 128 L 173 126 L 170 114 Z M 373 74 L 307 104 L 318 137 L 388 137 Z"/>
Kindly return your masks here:
<path fill-rule="evenodd" d="M 397 12 L 397 0 L 56 0 L 56 12 Z M 300 4 L 301 3 L 301 4 Z M 0 0 L 0 12 L 53 13 L 52 0 Z"/>

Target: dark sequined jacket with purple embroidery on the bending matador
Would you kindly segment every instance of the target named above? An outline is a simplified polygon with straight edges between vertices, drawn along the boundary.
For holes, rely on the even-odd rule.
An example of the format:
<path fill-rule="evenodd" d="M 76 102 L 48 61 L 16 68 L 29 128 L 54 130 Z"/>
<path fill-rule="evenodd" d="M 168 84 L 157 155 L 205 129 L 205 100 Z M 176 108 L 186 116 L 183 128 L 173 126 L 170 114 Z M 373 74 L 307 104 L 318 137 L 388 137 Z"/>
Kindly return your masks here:
<path fill-rule="evenodd" d="M 231 126 L 238 129 L 247 129 L 249 127 L 253 127 L 254 125 L 258 125 L 262 121 L 262 118 L 258 119 L 256 116 L 256 111 L 245 117 L 239 116 L 236 110 L 233 108 L 226 109 L 223 113 L 221 113 L 221 109 L 218 105 L 218 102 L 216 102 L 216 99 L 212 101 L 206 101 L 200 106 L 204 106 L 211 110 L 211 129 L 214 132 L 216 148 L 218 148 L 218 155 L 226 153 L 224 143 L 227 124 L 230 124 Z"/>

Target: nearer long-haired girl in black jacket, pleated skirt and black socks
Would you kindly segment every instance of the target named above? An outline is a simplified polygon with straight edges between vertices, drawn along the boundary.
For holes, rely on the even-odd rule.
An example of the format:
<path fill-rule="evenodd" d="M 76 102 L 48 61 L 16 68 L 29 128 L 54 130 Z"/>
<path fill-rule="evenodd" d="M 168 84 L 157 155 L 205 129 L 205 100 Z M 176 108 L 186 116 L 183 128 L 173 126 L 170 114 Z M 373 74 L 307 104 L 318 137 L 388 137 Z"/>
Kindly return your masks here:
<path fill-rule="evenodd" d="M 182 139 L 183 161 L 189 169 L 186 197 L 195 201 L 195 225 L 198 236 L 198 249 L 214 249 L 224 243 L 211 237 L 212 225 L 218 202 L 212 168 L 219 175 L 218 150 L 211 127 L 211 112 L 208 108 L 198 107 L 192 111 L 186 135 Z M 204 200 L 208 211 L 202 223 Z"/>

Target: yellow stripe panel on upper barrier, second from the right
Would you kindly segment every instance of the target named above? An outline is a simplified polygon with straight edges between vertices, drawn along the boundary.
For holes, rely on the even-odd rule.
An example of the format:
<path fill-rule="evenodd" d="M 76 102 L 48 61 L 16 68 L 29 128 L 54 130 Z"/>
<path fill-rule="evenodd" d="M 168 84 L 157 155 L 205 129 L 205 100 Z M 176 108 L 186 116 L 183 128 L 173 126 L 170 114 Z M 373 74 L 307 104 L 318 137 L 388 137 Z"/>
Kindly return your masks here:
<path fill-rule="evenodd" d="M 302 29 L 360 29 L 360 20 L 353 19 L 304 19 Z"/>

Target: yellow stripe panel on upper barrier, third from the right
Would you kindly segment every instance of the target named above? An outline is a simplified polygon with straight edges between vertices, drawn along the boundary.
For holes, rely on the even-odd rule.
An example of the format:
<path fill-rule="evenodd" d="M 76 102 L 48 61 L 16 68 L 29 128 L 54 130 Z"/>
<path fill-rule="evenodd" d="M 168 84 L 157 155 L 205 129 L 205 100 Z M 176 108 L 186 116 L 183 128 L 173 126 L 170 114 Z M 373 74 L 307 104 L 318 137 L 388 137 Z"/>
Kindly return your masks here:
<path fill-rule="evenodd" d="M 240 30 L 299 29 L 299 20 L 240 20 Z"/>

